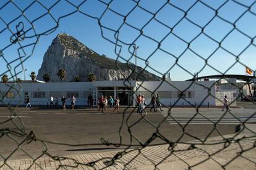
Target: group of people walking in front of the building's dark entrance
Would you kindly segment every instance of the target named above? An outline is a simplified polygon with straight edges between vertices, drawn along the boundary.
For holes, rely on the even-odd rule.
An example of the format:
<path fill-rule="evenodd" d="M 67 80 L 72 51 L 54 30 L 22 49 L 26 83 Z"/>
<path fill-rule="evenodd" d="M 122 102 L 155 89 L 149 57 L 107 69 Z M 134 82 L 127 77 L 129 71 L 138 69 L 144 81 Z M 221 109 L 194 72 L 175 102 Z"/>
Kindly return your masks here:
<path fill-rule="evenodd" d="M 118 96 L 116 97 L 116 99 L 113 99 L 112 96 L 109 97 L 109 99 L 106 96 L 99 96 L 98 100 L 97 100 L 97 105 L 98 105 L 98 111 L 101 110 L 101 113 L 103 113 L 103 110 L 106 111 L 106 108 L 108 108 L 108 106 L 110 107 L 110 110 L 113 110 L 113 112 L 117 109 L 117 112 L 119 112 L 119 98 Z"/>

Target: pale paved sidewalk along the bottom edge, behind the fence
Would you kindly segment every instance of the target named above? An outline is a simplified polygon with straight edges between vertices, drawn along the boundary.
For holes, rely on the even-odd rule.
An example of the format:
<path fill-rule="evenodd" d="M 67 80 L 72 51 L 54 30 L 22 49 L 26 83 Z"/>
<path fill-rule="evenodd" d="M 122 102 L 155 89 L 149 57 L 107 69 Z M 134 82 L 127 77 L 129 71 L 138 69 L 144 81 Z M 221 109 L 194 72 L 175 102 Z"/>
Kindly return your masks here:
<path fill-rule="evenodd" d="M 247 124 L 247 127 L 253 132 L 256 132 L 256 124 Z M 239 143 L 231 141 L 231 144 L 226 143 L 224 148 L 221 137 L 211 137 L 206 145 L 200 144 L 198 141 L 194 143 L 195 147 L 190 144 L 178 144 L 171 153 L 168 150 L 169 145 L 158 145 L 155 147 L 146 147 L 142 150 L 130 149 L 126 154 L 122 155 L 113 165 L 109 166 L 109 160 L 118 152 L 103 152 L 91 153 L 85 155 L 69 155 L 61 160 L 53 160 L 51 158 L 40 158 L 33 163 L 33 160 L 15 160 L 7 161 L 1 169 L 155 169 L 158 164 L 159 169 L 188 169 L 189 166 L 198 164 L 192 169 L 221 169 L 221 165 L 227 164 L 233 158 L 236 158 L 237 153 L 243 152 L 230 164 L 224 166 L 226 169 L 256 169 L 256 149 L 255 149 L 255 134 L 250 131 L 243 131 L 235 139 L 242 139 Z M 234 134 L 225 136 L 231 138 Z M 224 149 L 223 149 L 224 148 Z M 221 152 L 220 152 L 221 150 Z M 212 155 L 209 157 L 209 155 Z M 98 161 L 100 160 L 100 161 Z M 92 162 L 95 164 L 92 164 Z M 88 164 L 91 163 L 91 164 Z M 0 162 L 0 165 L 3 163 Z M 93 166 L 90 167 L 90 166 Z"/>

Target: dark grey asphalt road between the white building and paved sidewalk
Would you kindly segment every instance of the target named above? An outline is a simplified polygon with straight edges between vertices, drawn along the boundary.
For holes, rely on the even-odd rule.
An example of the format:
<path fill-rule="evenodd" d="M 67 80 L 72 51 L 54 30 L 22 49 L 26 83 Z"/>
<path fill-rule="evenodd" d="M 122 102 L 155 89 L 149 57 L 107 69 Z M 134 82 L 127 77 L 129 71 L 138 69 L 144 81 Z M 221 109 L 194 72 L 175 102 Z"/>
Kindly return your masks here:
<path fill-rule="evenodd" d="M 0 156 L 6 158 L 11 155 L 9 160 L 17 160 L 29 158 L 28 155 L 36 158 L 43 153 L 43 150 L 47 150 L 52 155 L 116 150 L 117 148 L 113 145 L 102 145 L 101 138 L 115 144 L 121 142 L 125 145 L 138 145 L 147 143 L 155 132 L 159 132 L 161 136 L 172 142 L 177 140 L 186 142 L 220 136 L 220 134 L 232 134 L 236 126 L 236 124 L 218 124 L 216 126 L 218 131 L 216 131 L 213 124 L 170 124 L 167 119 L 164 120 L 164 113 L 160 112 L 148 112 L 143 118 L 137 113 L 129 114 L 132 112 L 131 108 L 126 111 L 126 114 L 123 114 L 122 111 L 124 109 L 121 109 L 120 113 L 106 111 L 101 114 L 95 109 L 63 111 L 18 108 L 17 113 L 25 125 L 25 131 L 27 133 L 33 131 L 36 137 L 46 142 L 44 144 L 41 141 L 33 140 L 27 144 L 27 140 L 24 140 L 25 137 L 18 137 L 14 134 L 1 136 L 0 134 Z M 167 113 L 167 110 L 165 111 Z M 176 108 L 176 111 L 183 113 L 186 112 L 186 109 Z M 210 111 L 208 112 L 210 113 Z M 192 113 L 195 113 L 194 110 Z M 0 108 L 0 129 L 11 128 L 19 132 L 19 128 L 23 127 L 20 119 L 12 115 L 12 121 L 7 121 L 9 116 L 10 111 L 7 108 Z M 4 121 L 7 122 L 3 123 Z M 50 144 L 47 141 L 58 144 Z M 164 140 L 157 137 L 150 142 L 150 145 L 164 143 Z M 126 148 L 126 146 L 122 145 L 120 148 Z M 3 158 L 0 158 L 0 161 L 2 160 Z"/>

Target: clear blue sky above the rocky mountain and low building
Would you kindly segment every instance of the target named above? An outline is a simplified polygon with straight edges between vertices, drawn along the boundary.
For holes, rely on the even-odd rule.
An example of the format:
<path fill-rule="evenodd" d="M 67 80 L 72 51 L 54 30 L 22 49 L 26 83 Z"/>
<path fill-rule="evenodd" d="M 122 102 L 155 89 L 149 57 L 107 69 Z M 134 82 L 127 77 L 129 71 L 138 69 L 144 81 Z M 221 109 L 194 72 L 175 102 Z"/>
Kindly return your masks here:
<path fill-rule="evenodd" d="M 19 17 L 22 12 L 11 2 L 7 4 L 6 2 L 9 1 L 0 1 L 0 49 L 6 59 L 0 57 L 0 75 L 8 70 L 6 62 L 10 63 L 19 58 L 17 49 L 20 46 L 25 46 L 24 51 L 19 50 L 20 55 L 25 59 L 32 54 L 34 46 L 30 44 L 37 41 L 35 33 L 41 34 L 51 30 L 56 26 L 54 19 L 58 21 L 58 18 L 75 12 L 77 10 L 75 6 L 79 6 L 83 1 L 40 1 L 47 9 L 58 2 L 49 10 L 51 15 L 38 2 L 32 4 L 33 1 L 30 0 L 13 1 L 21 10 L 25 10 L 26 18 Z M 69 2 L 74 3 L 74 6 Z M 106 10 L 108 6 L 104 2 L 109 4 L 109 9 Z M 117 42 L 122 46 L 120 53 L 122 59 L 119 58 L 121 62 L 129 60 L 134 63 L 132 43 L 136 43 L 139 46 L 138 65 L 146 67 L 148 63 L 146 70 L 158 76 L 169 71 L 173 80 L 192 78 L 196 71 L 200 72 L 199 76 L 215 75 L 224 73 L 232 67 L 226 72 L 227 74 L 245 75 L 244 65 L 256 69 L 256 49 L 251 43 L 253 39 L 253 43 L 256 44 L 254 1 L 176 0 L 168 4 L 164 0 L 142 0 L 138 2 L 140 7 L 137 6 L 137 2 L 132 0 L 84 2 L 79 6 L 80 12 L 61 18 L 56 30 L 40 36 L 32 57 L 23 63 L 23 68 L 27 69 L 26 79 L 29 79 L 31 71 L 38 73 L 43 55 L 58 33 L 68 33 L 98 54 L 105 54 L 112 59 L 117 58 L 115 50 L 119 51 L 119 48 L 115 49 L 115 44 L 109 41 Z M 28 7 L 30 4 L 32 6 Z M 248 10 L 249 6 L 251 6 L 250 10 Z M 218 9 L 218 17 L 213 9 Z M 187 15 L 184 18 L 186 11 Z M 47 15 L 36 20 L 43 14 Z M 123 16 L 127 16 L 125 24 L 123 24 Z M 109 41 L 101 36 L 96 18 L 100 18 L 103 36 Z M 30 29 L 32 25 L 28 20 L 33 23 L 35 32 Z M 20 22 L 23 22 L 23 25 Z M 240 32 L 234 30 L 233 23 Z M 9 30 L 6 29 L 6 24 L 9 25 Z M 25 39 L 12 44 L 10 39 L 12 41 L 15 39 L 13 33 L 21 30 L 22 26 L 26 31 Z M 119 33 L 115 34 L 117 30 Z M 143 35 L 140 30 L 143 31 Z M 243 65 L 236 63 L 237 56 Z M 205 66 L 205 60 L 210 66 Z M 19 63 L 20 60 L 17 60 L 9 65 L 12 74 L 14 70 L 22 71 L 21 65 L 15 68 Z M 7 72 L 7 75 L 10 76 L 10 72 Z M 23 79 L 24 73 L 21 72 L 18 77 Z"/>

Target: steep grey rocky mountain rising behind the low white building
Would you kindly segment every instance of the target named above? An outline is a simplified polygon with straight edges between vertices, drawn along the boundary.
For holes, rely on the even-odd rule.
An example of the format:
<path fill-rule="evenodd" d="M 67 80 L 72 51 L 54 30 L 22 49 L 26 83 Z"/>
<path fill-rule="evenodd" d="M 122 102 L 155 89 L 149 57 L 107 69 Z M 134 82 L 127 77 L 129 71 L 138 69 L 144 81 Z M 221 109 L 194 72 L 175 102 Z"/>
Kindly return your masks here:
<path fill-rule="evenodd" d="M 117 63 L 116 60 L 109 59 L 105 55 L 99 55 L 69 34 L 58 34 L 49 46 L 43 57 L 43 63 L 38 71 L 37 79 L 43 81 L 43 75 L 49 73 L 49 82 L 59 82 L 57 76 L 60 69 L 66 70 L 66 78 L 63 81 L 74 81 L 75 76 L 80 76 L 80 81 L 88 81 L 88 73 L 96 75 L 96 80 L 122 80 L 136 79 L 137 74 L 132 69 L 135 65 L 127 63 Z M 130 69 L 130 68 L 132 69 Z M 142 72 L 141 67 L 137 67 L 138 72 Z M 157 81 L 160 77 L 144 70 L 137 81 Z"/>

